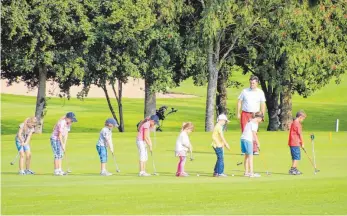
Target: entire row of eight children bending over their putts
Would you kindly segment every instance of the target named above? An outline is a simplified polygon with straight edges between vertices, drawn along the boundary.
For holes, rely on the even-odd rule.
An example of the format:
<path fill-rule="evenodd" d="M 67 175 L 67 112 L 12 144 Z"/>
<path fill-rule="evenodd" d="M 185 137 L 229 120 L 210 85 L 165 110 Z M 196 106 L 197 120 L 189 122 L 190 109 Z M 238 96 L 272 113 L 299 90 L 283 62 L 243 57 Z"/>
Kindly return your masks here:
<path fill-rule="evenodd" d="M 253 113 L 252 118 L 244 126 L 241 135 L 241 151 L 245 155 L 244 158 L 244 176 L 254 178 L 260 177 L 259 174 L 254 173 L 253 170 L 253 154 L 254 145 L 260 148 L 259 139 L 257 136 L 258 124 L 262 122 L 264 116 L 261 112 Z M 306 114 L 303 111 L 299 111 L 296 114 L 296 119 L 293 121 L 289 132 L 289 147 L 292 155 L 292 166 L 289 170 L 291 175 L 300 175 L 301 172 L 297 169 L 298 161 L 300 160 L 300 146 L 304 147 L 302 138 L 301 122 L 306 118 Z M 62 159 L 66 150 L 68 133 L 70 131 L 72 123 L 77 122 L 76 116 L 73 112 L 68 112 L 65 116 L 61 117 L 57 124 L 53 128 L 52 135 L 50 137 L 51 147 L 54 155 L 54 175 L 61 176 L 66 173 L 62 170 Z M 230 146 L 224 138 L 224 126 L 229 122 L 225 114 L 221 114 L 217 118 L 217 124 L 214 127 L 212 133 L 212 148 L 216 153 L 217 161 L 214 166 L 214 177 L 227 177 L 224 173 L 224 148 L 230 150 Z M 30 169 L 31 152 L 30 152 L 30 139 L 34 133 L 37 119 L 35 117 L 27 118 L 19 125 L 19 130 L 15 138 L 16 148 L 20 153 L 19 159 L 19 174 L 30 175 L 35 174 Z M 150 132 L 155 131 L 156 125 L 159 125 L 159 118 L 156 115 L 152 115 L 145 118 L 138 125 L 138 133 L 136 137 L 136 144 L 139 152 L 139 176 L 150 176 L 146 172 L 146 162 L 148 160 L 148 148 L 152 154 L 152 141 Z M 112 129 L 118 127 L 117 121 L 113 118 L 109 118 L 105 121 L 105 126 L 100 131 L 99 139 L 96 143 L 96 150 L 100 158 L 102 176 L 110 176 L 112 173 L 106 169 L 107 163 L 107 148 L 114 154 L 114 148 L 112 143 Z M 192 159 L 193 147 L 189 140 L 189 134 L 194 130 L 194 125 L 191 122 L 185 122 L 182 125 L 181 132 L 176 140 L 175 156 L 179 158 L 177 165 L 176 176 L 186 177 L 188 174 L 185 172 L 185 162 L 188 154 Z M 25 169 L 24 158 L 26 157 Z"/>

